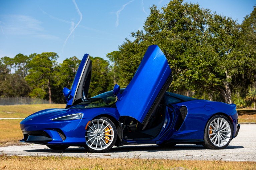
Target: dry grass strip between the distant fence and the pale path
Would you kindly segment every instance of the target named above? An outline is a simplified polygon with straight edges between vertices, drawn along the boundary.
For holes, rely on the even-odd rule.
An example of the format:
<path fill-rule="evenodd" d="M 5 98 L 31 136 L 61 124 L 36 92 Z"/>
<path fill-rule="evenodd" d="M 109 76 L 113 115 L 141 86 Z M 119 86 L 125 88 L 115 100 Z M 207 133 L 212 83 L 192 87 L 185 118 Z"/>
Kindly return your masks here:
<path fill-rule="evenodd" d="M 0 106 L 1 118 L 27 117 L 32 113 L 48 108 L 65 108 L 65 104 L 25 104 Z"/>

